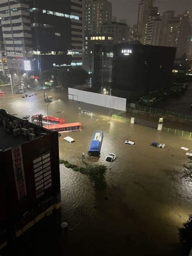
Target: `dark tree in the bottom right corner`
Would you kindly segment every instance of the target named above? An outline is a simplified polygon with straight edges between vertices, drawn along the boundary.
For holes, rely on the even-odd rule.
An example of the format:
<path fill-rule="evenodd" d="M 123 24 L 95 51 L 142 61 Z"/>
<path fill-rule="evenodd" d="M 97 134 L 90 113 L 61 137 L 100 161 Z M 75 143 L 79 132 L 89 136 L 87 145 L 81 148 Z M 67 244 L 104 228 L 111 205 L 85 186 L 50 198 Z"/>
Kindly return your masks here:
<path fill-rule="evenodd" d="M 184 247 L 184 254 L 188 256 L 191 247 L 192 247 L 192 214 L 189 215 L 188 221 L 183 223 L 183 226 L 181 228 L 178 228 L 179 230 L 179 240 L 181 243 L 183 243 Z"/>

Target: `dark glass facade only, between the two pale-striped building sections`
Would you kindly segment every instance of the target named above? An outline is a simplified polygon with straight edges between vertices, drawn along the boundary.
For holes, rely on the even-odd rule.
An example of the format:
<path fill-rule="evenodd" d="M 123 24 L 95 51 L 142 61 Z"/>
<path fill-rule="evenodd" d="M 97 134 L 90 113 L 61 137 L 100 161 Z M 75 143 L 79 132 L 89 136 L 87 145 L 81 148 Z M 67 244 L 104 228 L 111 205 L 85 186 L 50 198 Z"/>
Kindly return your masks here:
<path fill-rule="evenodd" d="M 70 0 L 30 0 L 32 45 L 36 69 L 71 63 Z"/>

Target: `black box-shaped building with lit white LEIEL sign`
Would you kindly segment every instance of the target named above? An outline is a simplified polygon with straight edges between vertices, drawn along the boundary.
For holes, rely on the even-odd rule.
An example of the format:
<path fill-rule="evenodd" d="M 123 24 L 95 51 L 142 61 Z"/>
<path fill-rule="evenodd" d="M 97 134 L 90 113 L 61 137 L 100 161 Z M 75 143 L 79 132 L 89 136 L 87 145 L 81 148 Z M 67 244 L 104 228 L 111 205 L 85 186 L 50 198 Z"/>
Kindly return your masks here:
<path fill-rule="evenodd" d="M 93 91 L 111 87 L 112 94 L 137 100 L 171 82 L 176 48 L 135 41 L 113 47 L 95 45 Z"/>

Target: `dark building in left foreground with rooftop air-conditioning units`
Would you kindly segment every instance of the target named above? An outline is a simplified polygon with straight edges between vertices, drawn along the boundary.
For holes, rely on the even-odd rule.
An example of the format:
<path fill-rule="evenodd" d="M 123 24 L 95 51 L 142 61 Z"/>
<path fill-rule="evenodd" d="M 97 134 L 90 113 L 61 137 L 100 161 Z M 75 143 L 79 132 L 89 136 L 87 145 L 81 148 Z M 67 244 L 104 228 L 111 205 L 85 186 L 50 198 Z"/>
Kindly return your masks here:
<path fill-rule="evenodd" d="M 0 109 L 0 248 L 60 207 L 58 132 Z"/>

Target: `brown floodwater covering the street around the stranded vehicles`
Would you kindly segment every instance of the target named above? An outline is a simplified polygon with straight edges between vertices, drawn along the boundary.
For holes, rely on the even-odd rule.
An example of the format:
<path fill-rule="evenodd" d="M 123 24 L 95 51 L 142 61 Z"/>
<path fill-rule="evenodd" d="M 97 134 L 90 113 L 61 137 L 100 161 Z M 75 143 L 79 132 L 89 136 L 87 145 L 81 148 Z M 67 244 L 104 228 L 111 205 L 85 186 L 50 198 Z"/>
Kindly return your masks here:
<path fill-rule="evenodd" d="M 24 115 L 31 118 L 37 113 L 47 115 L 42 98 L 43 94 L 1 99 L 0 108 L 21 118 Z M 81 114 L 78 108 L 94 111 L 92 118 Z M 64 113 L 56 113 L 61 110 Z M 50 228 L 43 231 L 49 238 L 42 239 L 42 252 L 67 256 L 79 252 L 82 255 L 180 256 L 177 227 L 192 213 L 192 183 L 183 177 L 183 164 L 189 159 L 180 147 L 192 149 L 191 141 L 137 124 L 109 120 L 109 109 L 68 100 L 66 96 L 51 102 L 49 115 L 64 117 L 66 123 L 82 124 L 81 132 L 62 133 L 60 157 L 78 166 L 105 164 L 108 170 L 107 189 L 95 192 L 85 175 L 60 165 L 62 209 L 57 222 L 66 221 L 76 227 L 67 235 L 55 231 L 51 216 Z M 96 130 L 104 132 L 100 158 L 87 156 Z M 73 137 L 75 143 L 64 141 L 65 136 Z M 134 141 L 135 145 L 124 145 L 124 139 Z M 151 147 L 149 144 L 154 141 L 165 143 L 165 148 Z M 84 162 L 82 152 L 86 156 Z M 117 154 L 113 163 L 105 161 L 109 153 Z M 34 228 L 29 235 L 26 233 L 28 238 L 19 240 L 20 255 L 40 255 L 41 250 L 35 250 L 33 245 L 40 244 L 41 224 Z M 23 249 L 23 241 L 28 241 L 25 246 L 31 254 Z"/>

